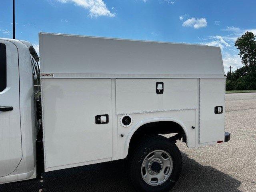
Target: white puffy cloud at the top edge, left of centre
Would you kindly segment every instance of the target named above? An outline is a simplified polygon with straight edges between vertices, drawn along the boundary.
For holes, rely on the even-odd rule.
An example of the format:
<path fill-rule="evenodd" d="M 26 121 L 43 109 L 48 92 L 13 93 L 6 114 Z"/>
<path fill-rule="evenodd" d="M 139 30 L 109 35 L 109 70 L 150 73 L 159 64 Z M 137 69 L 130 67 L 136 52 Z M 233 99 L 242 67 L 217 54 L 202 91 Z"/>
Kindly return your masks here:
<path fill-rule="evenodd" d="M 103 0 L 57 0 L 62 3 L 74 3 L 76 6 L 81 6 L 90 11 L 91 17 L 108 16 L 114 17 L 115 14 L 108 10 Z"/>

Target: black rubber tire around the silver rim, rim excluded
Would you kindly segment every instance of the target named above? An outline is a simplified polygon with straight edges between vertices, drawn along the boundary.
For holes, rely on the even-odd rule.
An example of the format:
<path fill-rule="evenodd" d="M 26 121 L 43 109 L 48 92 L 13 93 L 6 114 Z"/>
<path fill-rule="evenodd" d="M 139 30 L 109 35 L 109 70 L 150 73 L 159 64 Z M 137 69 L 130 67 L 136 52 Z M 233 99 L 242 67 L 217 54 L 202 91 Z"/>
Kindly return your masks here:
<path fill-rule="evenodd" d="M 168 180 L 158 186 L 152 186 L 144 181 L 141 166 L 148 154 L 155 150 L 167 152 L 173 162 L 173 169 Z M 141 140 L 127 161 L 127 174 L 134 189 L 138 192 L 168 192 L 176 183 L 182 170 L 182 157 L 180 150 L 168 138 L 160 135 L 148 136 Z"/>

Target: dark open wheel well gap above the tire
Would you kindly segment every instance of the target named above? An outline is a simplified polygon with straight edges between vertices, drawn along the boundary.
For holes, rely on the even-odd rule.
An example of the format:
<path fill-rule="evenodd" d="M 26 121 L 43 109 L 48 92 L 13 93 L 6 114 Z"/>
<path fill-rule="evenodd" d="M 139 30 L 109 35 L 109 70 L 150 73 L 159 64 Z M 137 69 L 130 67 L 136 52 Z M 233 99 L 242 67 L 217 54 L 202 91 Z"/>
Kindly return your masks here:
<path fill-rule="evenodd" d="M 140 126 L 136 132 L 132 135 L 132 138 L 130 140 L 129 144 L 129 151 L 133 149 L 136 144 L 138 144 L 138 141 L 141 140 L 142 137 L 148 136 L 148 135 L 156 135 L 156 134 L 172 134 L 177 133 L 180 135 L 180 138 L 182 137 L 182 141 L 186 142 L 186 134 L 180 126 L 180 124 L 173 122 L 173 121 L 160 121 L 160 122 L 151 122 L 144 124 Z"/>

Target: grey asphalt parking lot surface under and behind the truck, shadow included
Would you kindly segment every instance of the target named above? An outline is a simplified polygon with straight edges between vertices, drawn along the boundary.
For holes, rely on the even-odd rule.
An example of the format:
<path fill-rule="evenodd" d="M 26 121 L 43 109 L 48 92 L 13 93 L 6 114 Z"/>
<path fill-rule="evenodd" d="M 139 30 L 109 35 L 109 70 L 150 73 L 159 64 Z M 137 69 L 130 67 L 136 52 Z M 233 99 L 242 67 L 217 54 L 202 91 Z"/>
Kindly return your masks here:
<path fill-rule="evenodd" d="M 182 174 L 172 192 L 256 192 L 256 93 L 226 94 L 231 140 L 182 152 Z M 0 185 L 0 192 L 130 192 L 123 161 L 58 170 L 40 180 Z"/>

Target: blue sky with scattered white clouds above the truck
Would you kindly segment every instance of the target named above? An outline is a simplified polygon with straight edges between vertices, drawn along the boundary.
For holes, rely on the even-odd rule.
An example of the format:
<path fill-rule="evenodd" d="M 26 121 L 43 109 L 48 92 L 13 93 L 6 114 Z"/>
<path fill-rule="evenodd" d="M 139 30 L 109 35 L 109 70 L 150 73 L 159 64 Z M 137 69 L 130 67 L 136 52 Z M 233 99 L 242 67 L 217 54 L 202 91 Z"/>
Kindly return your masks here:
<path fill-rule="evenodd" d="M 256 34 L 255 0 L 16 0 L 16 38 L 38 50 L 38 32 L 220 46 L 225 70 L 242 66 L 237 37 Z M 12 38 L 12 1 L 0 37 Z"/>

